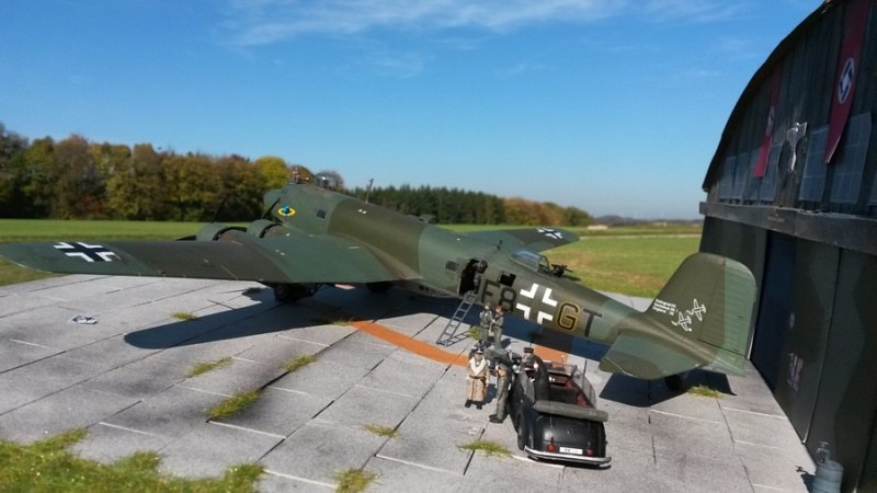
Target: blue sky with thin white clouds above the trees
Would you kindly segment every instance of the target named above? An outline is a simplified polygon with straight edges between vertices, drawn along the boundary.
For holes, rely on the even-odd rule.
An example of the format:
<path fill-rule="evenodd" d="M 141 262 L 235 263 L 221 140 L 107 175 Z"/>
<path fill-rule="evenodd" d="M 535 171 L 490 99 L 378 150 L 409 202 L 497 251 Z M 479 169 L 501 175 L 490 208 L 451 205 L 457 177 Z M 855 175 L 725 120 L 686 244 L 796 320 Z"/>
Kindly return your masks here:
<path fill-rule="evenodd" d="M 697 218 L 731 108 L 821 0 L 0 1 L 0 123 Z"/>

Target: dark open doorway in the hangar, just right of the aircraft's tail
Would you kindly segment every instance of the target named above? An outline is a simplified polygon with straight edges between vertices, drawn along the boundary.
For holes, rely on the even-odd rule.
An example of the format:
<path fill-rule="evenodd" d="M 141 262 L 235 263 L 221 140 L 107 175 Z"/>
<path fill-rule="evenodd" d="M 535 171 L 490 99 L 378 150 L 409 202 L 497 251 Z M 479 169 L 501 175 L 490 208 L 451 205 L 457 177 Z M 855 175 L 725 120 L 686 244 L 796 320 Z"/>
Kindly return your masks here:
<path fill-rule="evenodd" d="M 761 371 L 771 390 L 776 390 L 781 354 L 791 317 L 795 277 L 795 238 L 778 232 L 767 236 L 759 318 L 752 343 L 752 364 Z"/>

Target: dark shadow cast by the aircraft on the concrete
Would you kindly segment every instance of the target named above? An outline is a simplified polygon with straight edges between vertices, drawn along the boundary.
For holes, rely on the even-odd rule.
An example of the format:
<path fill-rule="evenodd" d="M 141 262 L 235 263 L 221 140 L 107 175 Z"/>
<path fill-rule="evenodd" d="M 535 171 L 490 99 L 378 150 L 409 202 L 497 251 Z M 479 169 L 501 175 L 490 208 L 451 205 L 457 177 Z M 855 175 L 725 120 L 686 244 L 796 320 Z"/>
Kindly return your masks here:
<path fill-rule="evenodd" d="M 324 288 L 314 297 L 305 298 L 297 303 L 276 302 L 269 289 L 247 290 L 243 296 L 260 302 L 194 320 L 143 329 L 126 334 L 125 342 L 146 349 L 167 349 L 331 324 L 333 320 L 340 319 L 380 320 L 388 316 L 405 317 L 423 312 L 449 319 L 459 302 L 456 299 L 430 298 L 401 289 L 375 294 L 366 289 L 345 291 Z M 266 308 L 266 305 L 270 307 Z M 480 309 L 481 307 L 477 305 L 472 306 L 464 323 L 477 328 Z M 438 323 L 445 322 L 438 321 Z M 467 331 L 467 328 L 462 325 L 458 331 Z M 527 345 L 545 345 L 583 357 L 589 362 L 588 365 L 597 365 L 608 351 L 605 344 L 544 330 L 538 324 L 516 317 L 506 317 L 503 336 L 503 348 L 509 347 L 511 342 L 509 337 L 514 337 Z M 468 336 L 458 337 L 449 346 L 457 343 L 468 344 L 469 341 Z M 721 374 L 706 370 L 690 371 L 684 379 L 685 388 L 698 385 L 722 393 L 732 393 L 727 377 Z M 684 390 L 669 389 L 663 380 L 647 381 L 624 375 L 612 375 L 603 387 L 600 398 L 627 405 L 650 406 L 683 392 Z"/>

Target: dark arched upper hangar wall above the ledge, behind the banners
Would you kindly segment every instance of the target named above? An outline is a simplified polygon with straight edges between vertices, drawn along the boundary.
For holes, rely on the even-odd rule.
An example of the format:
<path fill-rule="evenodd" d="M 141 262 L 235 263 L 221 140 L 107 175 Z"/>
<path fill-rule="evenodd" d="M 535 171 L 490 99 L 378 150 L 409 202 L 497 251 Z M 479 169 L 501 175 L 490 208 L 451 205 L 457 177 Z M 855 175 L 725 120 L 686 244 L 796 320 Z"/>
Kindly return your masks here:
<path fill-rule="evenodd" d="M 709 202 L 729 204 L 771 205 L 877 217 L 877 146 L 862 148 L 874 141 L 877 128 L 872 125 L 877 113 L 877 8 L 872 7 L 866 37 L 859 58 L 851 119 L 839 152 L 831 164 L 821 162 L 824 142 L 818 142 L 820 131 L 829 125 L 832 100 L 836 89 L 838 66 L 843 38 L 845 14 L 851 1 L 833 1 L 815 12 L 772 54 L 750 81 L 734 107 L 722 134 L 704 187 Z M 870 2 L 874 3 L 873 1 Z M 767 125 L 773 77 L 778 74 L 781 89 L 772 130 L 771 165 L 764 177 L 754 176 L 754 168 Z M 867 135 L 852 138 L 854 117 Z M 802 139 L 787 140 L 788 130 L 796 124 L 807 124 Z M 857 153 L 866 150 L 861 158 Z M 793 165 L 793 154 L 795 154 Z M 805 185 L 805 165 L 815 159 L 816 180 Z M 847 192 L 854 198 L 840 196 L 844 187 L 843 173 L 864 160 L 861 171 L 853 171 L 856 187 Z M 861 164 L 858 164 L 861 165 Z M 836 183 L 835 183 L 836 182 Z M 859 183 L 861 182 L 861 183 Z M 859 186 L 861 185 L 861 186 Z"/>

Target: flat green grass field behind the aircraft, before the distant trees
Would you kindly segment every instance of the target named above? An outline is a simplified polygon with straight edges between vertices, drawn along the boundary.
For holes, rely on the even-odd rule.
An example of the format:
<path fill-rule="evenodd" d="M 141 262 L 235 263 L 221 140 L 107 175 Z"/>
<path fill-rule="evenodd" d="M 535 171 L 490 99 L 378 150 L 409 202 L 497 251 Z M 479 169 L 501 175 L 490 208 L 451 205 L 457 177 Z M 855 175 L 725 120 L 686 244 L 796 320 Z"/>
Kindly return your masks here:
<path fill-rule="evenodd" d="M 0 219 L 0 243 L 55 240 L 171 240 L 194 234 L 200 222 L 65 221 Z M 455 225 L 455 231 L 483 226 Z M 582 241 L 545 252 L 556 264 L 591 288 L 653 297 L 680 263 L 697 251 L 698 225 L 657 225 L 573 231 Z M 22 268 L 0 260 L 0 285 L 24 283 L 50 274 Z"/>

